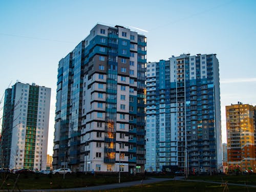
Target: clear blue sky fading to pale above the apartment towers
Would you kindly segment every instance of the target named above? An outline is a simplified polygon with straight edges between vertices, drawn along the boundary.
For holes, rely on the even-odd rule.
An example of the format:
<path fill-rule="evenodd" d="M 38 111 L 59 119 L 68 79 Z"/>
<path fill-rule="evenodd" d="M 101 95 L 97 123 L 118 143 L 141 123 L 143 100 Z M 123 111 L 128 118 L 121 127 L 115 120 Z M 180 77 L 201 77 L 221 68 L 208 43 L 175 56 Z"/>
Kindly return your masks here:
<path fill-rule="evenodd" d="M 256 105 L 255 7 L 256 1 L 242 0 L 1 1 L 0 96 L 16 80 L 52 88 L 52 154 L 58 61 L 97 23 L 133 26 L 148 31 L 138 31 L 147 36 L 147 61 L 182 53 L 217 54 L 226 142 L 225 105 Z"/>

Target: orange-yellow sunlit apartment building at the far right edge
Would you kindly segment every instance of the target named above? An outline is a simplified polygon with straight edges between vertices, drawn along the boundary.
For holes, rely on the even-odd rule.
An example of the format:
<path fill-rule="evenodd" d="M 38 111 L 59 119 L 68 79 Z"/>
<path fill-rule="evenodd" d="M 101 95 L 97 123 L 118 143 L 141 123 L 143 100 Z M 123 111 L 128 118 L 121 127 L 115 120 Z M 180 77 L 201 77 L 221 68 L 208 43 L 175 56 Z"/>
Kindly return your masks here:
<path fill-rule="evenodd" d="M 227 166 L 229 169 L 256 171 L 255 110 L 256 106 L 241 102 L 226 106 Z"/>

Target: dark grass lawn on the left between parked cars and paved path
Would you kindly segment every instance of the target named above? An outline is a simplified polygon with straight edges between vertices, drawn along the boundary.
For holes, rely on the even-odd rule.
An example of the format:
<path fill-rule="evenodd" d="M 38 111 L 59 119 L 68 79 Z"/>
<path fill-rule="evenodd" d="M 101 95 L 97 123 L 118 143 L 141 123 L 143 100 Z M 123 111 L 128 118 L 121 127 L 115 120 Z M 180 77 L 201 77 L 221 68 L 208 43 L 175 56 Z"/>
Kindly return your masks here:
<path fill-rule="evenodd" d="M 5 175 L 1 174 L 0 185 L 2 184 Z M 9 189 L 12 188 L 14 182 L 17 178 L 16 174 L 9 174 L 6 184 L 3 185 L 1 189 L 7 189 L 7 183 L 9 184 Z M 121 176 L 121 182 L 141 180 L 141 176 Z M 76 188 L 85 186 L 95 186 L 103 184 L 118 183 L 118 175 L 96 175 L 92 176 L 85 174 L 72 174 L 65 176 L 63 175 L 37 175 L 37 174 L 20 174 L 18 179 L 18 187 L 20 189 L 60 189 L 60 188 Z"/>

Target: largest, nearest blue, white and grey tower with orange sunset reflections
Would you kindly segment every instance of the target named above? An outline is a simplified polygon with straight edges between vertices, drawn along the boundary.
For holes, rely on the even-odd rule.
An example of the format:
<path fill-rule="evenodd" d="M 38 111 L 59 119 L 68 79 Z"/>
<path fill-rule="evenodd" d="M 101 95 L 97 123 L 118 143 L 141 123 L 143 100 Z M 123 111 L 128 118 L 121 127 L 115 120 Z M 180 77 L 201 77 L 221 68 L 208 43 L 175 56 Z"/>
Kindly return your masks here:
<path fill-rule="evenodd" d="M 145 64 L 145 36 L 104 25 L 59 61 L 53 168 L 144 171 Z"/>

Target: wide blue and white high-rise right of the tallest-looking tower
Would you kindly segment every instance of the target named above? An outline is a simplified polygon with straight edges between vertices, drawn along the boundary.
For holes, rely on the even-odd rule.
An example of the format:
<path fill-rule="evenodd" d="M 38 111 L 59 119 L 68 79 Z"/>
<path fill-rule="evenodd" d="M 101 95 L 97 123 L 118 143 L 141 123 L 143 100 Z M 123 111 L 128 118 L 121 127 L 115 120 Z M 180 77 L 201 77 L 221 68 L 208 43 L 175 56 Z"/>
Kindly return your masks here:
<path fill-rule="evenodd" d="M 147 63 L 146 170 L 217 172 L 221 143 L 216 54 Z"/>

